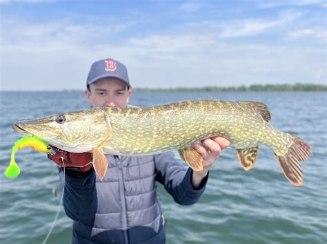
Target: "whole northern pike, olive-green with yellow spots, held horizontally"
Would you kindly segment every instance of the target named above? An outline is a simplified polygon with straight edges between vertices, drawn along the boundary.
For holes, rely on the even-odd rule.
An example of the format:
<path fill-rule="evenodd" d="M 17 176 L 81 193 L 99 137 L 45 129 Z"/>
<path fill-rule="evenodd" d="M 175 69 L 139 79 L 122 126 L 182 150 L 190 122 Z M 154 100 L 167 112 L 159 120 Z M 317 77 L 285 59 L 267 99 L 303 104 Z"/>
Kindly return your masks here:
<path fill-rule="evenodd" d="M 148 108 L 99 107 L 52 115 L 12 124 L 23 135 L 72 153 L 93 153 L 93 166 L 100 179 L 108 168 L 104 154 L 152 155 L 179 151 L 192 168 L 203 169 L 202 155 L 191 145 L 221 136 L 236 148 L 244 170 L 257 160 L 259 144 L 270 147 L 286 178 L 303 184 L 300 161 L 308 159 L 311 147 L 299 137 L 268 123 L 270 112 L 261 102 L 194 100 Z"/>

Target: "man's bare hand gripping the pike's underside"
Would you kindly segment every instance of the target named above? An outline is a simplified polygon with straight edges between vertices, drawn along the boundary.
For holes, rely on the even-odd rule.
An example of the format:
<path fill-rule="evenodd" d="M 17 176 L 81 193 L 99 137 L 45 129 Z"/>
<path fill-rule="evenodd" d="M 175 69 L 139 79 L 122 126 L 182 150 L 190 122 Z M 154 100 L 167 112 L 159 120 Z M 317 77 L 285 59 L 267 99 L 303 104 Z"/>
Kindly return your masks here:
<path fill-rule="evenodd" d="M 201 144 L 192 144 L 204 157 L 204 169 L 201 171 L 193 171 L 192 185 L 194 188 L 199 187 L 202 179 L 208 175 L 209 168 L 220 156 L 221 150 L 230 145 L 230 142 L 224 137 L 211 137 L 201 141 Z"/>

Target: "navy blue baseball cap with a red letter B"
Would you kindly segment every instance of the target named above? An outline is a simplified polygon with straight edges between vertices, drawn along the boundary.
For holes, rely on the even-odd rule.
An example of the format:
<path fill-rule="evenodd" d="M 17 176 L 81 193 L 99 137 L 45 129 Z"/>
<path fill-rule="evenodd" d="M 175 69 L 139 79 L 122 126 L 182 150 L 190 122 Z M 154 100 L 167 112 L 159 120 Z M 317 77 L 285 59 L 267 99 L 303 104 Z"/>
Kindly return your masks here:
<path fill-rule="evenodd" d="M 126 66 L 112 58 L 99 60 L 92 64 L 86 85 L 91 85 L 93 82 L 107 77 L 119 78 L 130 88 Z"/>

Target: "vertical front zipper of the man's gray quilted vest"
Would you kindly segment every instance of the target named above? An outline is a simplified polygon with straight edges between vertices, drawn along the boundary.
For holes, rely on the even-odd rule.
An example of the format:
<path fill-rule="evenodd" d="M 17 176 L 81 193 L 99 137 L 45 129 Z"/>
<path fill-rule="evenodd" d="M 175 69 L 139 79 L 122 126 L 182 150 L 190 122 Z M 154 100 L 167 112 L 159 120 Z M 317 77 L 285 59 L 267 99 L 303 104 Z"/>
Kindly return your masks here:
<path fill-rule="evenodd" d="M 125 199 L 125 187 L 123 185 L 123 166 L 121 165 L 121 157 L 115 155 L 115 159 L 118 165 L 118 178 L 119 178 L 119 195 L 121 199 L 121 223 L 123 225 L 123 236 L 124 243 L 128 244 L 127 235 L 127 210 L 126 210 L 126 199 Z"/>

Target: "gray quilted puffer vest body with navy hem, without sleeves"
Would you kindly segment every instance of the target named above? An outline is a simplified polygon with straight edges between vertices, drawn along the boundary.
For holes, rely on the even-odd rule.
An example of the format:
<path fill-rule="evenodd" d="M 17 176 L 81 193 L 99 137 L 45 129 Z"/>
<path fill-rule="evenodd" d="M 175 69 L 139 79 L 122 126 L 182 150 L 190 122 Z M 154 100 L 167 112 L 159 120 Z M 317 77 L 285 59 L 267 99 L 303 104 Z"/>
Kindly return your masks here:
<path fill-rule="evenodd" d="M 97 177 L 98 210 L 94 223 L 74 223 L 78 243 L 81 239 L 88 240 L 87 243 L 103 240 L 108 243 L 149 243 L 160 234 L 159 231 L 164 236 L 155 187 L 155 156 L 107 155 L 107 159 L 106 177 L 103 181 Z M 139 232 L 144 234 L 140 236 Z M 136 239 L 137 236 L 146 239 Z M 129 237 L 132 237 L 131 241 Z"/>

